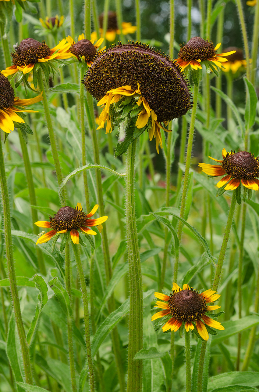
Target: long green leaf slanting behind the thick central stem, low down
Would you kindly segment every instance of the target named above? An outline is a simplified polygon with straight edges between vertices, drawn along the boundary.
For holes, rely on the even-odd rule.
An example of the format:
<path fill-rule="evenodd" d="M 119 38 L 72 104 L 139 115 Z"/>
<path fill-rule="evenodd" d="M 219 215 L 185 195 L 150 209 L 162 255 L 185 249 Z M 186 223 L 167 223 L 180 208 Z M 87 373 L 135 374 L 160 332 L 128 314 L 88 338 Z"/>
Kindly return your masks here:
<path fill-rule="evenodd" d="M 143 299 L 149 297 L 153 294 L 154 290 L 149 290 L 143 293 Z M 126 316 L 130 311 L 130 299 L 126 301 L 114 312 L 109 314 L 109 316 L 101 323 L 97 331 L 95 332 L 94 339 L 92 341 L 92 357 L 94 357 L 99 349 L 100 345 L 103 343 L 104 339 L 108 333 L 115 327 L 119 321 Z"/>

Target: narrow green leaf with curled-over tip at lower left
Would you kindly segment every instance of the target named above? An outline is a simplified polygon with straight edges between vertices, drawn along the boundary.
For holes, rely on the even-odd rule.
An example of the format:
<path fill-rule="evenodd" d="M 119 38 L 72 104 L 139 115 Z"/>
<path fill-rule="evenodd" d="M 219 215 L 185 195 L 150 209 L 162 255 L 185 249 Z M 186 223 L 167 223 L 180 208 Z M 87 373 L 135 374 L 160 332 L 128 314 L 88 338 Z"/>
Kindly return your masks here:
<path fill-rule="evenodd" d="M 34 275 L 32 280 L 35 283 L 35 287 L 40 291 L 38 295 L 38 303 L 36 305 L 36 310 L 35 310 L 35 315 L 32 319 L 31 322 L 31 327 L 27 333 L 27 342 L 29 346 L 31 345 L 33 338 L 35 336 L 37 327 L 38 327 L 38 321 L 40 319 L 40 314 L 41 314 L 41 309 L 43 308 L 44 305 L 46 305 L 48 301 L 48 296 L 47 296 L 47 291 L 48 287 L 47 284 L 45 283 L 44 279 L 40 275 Z"/>

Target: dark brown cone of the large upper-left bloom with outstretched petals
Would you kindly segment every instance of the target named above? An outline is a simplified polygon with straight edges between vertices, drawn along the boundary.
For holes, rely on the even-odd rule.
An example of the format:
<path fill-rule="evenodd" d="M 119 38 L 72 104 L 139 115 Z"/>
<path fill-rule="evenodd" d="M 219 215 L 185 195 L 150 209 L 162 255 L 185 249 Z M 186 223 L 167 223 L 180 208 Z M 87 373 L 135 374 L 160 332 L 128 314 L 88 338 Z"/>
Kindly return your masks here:
<path fill-rule="evenodd" d="M 39 58 L 49 56 L 51 50 L 45 41 L 40 43 L 33 38 L 22 40 L 15 52 L 11 53 L 13 64 L 22 67 L 23 65 L 35 64 Z"/>

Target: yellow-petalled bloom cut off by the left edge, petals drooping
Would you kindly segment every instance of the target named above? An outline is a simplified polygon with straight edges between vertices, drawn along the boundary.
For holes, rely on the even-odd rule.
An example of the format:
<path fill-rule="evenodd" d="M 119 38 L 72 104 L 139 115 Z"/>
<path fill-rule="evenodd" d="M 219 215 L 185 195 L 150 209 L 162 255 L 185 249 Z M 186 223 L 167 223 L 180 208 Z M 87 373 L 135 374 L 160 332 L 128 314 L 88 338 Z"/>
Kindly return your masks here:
<path fill-rule="evenodd" d="M 18 113 L 37 113 L 34 110 L 23 109 L 24 106 L 40 102 L 42 96 L 31 99 L 19 99 L 14 96 L 14 89 L 9 80 L 0 73 L 0 129 L 6 133 L 14 130 L 14 122 L 24 123 Z"/>

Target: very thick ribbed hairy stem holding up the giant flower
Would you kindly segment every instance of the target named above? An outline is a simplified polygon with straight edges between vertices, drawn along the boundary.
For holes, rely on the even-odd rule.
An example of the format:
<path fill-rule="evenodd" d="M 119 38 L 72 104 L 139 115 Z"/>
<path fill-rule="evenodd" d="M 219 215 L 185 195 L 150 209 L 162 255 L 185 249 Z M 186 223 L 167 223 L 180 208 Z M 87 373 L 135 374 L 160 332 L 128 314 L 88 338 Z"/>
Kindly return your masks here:
<path fill-rule="evenodd" d="M 127 392 L 142 388 L 142 361 L 134 361 L 135 354 L 143 347 L 143 289 L 138 248 L 138 234 L 135 212 L 134 168 L 137 140 L 128 148 L 126 161 L 126 230 L 129 262 L 129 347 Z"/>

